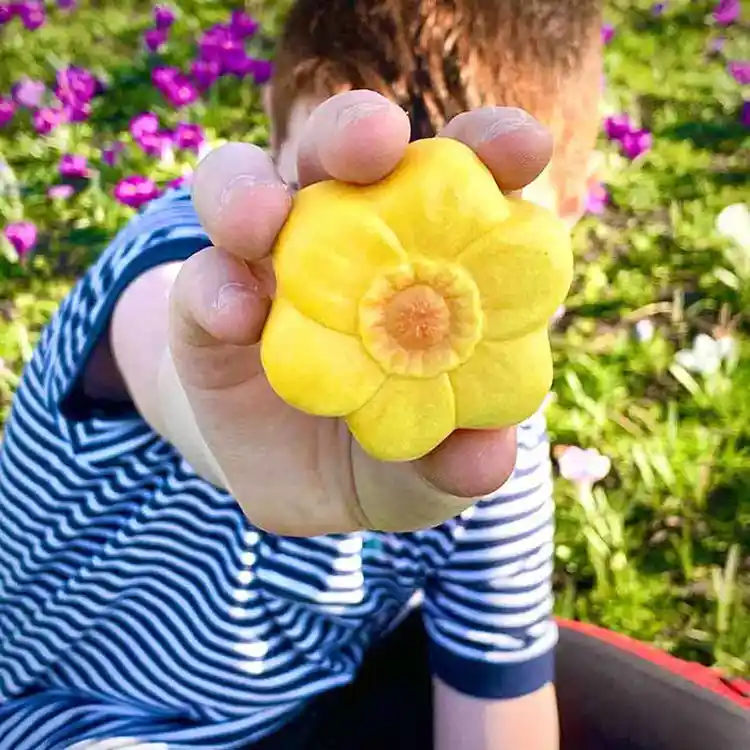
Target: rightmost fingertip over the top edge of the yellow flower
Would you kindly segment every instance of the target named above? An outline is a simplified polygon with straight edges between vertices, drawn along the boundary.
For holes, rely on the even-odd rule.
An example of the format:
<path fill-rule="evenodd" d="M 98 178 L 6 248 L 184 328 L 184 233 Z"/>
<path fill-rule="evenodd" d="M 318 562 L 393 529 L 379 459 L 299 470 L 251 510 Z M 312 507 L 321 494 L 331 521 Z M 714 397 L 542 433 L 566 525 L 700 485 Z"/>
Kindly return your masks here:
<path fill-rule="evenodd" d="M 521 190 L 552 158 L 552 135 L 530 114 L 515 107 L 483 107 L 453 118 L 440 135 L 473 149 L 498 186 Z"/>

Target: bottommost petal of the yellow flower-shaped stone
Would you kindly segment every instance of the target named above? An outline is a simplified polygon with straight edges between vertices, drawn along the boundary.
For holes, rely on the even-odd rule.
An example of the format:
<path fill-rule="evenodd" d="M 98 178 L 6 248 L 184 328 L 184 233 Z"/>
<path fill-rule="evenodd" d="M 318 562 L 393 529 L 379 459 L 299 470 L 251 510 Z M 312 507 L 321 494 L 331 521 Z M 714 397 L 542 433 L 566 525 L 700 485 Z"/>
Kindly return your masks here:
<path fill-rule="evenodd" d="M 359 444 L 381 461 L 421 458 L 456 426 L 448 376 L 439 375 L 431 380 L 391 376 L 346 421 Z"/>

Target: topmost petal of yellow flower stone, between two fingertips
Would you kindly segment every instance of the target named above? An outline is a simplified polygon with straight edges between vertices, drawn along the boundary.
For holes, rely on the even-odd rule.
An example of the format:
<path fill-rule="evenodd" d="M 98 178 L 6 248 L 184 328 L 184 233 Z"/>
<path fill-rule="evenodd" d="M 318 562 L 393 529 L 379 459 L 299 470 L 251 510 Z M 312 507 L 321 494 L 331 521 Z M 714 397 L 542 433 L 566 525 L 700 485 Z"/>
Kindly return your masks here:
<path fill-rule="evenodd" d="M 509 214 L 479 157 L 451 138 L 415 141 L 398 167 L 366 188 L 410 256 L 455 258 Z"/>

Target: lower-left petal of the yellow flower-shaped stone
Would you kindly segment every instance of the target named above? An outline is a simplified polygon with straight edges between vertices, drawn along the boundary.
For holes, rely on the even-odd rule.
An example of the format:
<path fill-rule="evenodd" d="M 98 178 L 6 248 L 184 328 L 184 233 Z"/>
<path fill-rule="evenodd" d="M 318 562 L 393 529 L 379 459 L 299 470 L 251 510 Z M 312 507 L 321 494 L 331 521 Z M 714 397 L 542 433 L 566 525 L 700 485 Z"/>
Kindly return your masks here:
<path fill-rule="evenodd" d="M 309 414 L 350 414 L 385 381 L 359 339 L 306 318 L 283 298 L 274 301 L 260 352 L 276 394 Z"/>

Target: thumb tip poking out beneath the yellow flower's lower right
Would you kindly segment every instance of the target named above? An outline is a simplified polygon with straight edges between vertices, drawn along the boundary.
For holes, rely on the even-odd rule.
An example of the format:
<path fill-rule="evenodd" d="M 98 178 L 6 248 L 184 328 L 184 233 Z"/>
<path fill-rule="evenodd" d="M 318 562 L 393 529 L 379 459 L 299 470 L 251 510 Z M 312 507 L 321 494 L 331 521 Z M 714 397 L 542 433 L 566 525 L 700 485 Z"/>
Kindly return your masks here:
<path fill-rule="evenodd" d="M 437 488 L 459 497 L 482 497 L 507 481 L 516 463 L 516 431 L 458 430 L 415 462 Z"/>

